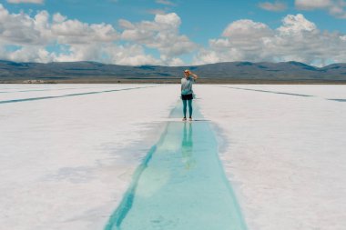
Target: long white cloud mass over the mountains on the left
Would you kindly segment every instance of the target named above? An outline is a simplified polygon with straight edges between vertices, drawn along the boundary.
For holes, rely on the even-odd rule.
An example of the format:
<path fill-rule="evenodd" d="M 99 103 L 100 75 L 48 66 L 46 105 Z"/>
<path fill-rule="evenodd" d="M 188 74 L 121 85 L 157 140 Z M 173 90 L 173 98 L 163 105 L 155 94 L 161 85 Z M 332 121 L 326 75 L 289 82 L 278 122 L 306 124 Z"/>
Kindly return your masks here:
<path fill-rule="evenodd" d="M 135 24 L 123 19 L 119 21 L 123 30 L 117 31 L 109 24 L 87 24 L 59 13 L 11 14 L 0 4 L 0 58 L 44 63 L 87 60 L 179 65 L 182 61 L 176 55 L 194 47 L 186 35 L 178 34 L 180 24 L 178 15 L 171 13 Z M 146 54 L 146 47 L 158 50 L 160 57 Z"/>

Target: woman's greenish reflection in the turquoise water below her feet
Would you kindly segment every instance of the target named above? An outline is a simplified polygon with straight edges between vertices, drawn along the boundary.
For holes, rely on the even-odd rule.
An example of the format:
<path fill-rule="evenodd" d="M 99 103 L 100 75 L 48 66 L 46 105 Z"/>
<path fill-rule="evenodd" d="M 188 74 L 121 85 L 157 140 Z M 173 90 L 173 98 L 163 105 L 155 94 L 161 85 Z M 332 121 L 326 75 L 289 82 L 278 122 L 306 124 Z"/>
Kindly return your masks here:
<path fill-rule="evenodd" d="M 188 170 L 192 169 L 196 164 L 196 160 L 193 157 L 193 140 L 192 139 L 193 139 L 192 138 L 192 124 L 184 123 L 183 139 L 181 142 L 181 155 L 182 155 L 182 162 L 184 163 L 185 168 Z"/>

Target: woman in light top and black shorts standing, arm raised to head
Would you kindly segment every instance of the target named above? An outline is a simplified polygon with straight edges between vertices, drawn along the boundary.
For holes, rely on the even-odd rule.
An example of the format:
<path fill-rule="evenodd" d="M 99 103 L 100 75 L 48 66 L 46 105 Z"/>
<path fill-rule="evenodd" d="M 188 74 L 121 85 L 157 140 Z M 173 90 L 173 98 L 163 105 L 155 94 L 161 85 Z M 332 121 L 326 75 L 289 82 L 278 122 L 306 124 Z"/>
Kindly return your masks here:
<path fill-rule="evenodd" d="M 192 76 L 192 77 L 191 77 Z M 188 115 L 189 121 L 192 121 L 192 99 L 193 99 L 193 91 L 192 84 L 196 81 L 198 75 L 192 74 L 191 71 L 186 69 L 184 71 L 184 77 L 181 78 L 181 100 L 183 101 L 183 113 L 184 118 L 183 121 L 187 120 L 187 104 L 188 104 Z"/>

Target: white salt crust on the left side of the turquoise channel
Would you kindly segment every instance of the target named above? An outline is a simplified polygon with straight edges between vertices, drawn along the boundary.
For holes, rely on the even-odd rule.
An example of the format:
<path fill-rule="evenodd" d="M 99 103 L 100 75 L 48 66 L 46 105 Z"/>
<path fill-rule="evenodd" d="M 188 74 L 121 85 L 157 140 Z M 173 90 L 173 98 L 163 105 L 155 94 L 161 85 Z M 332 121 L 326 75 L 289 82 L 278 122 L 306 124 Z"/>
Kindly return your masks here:
<path fill-rule="evenodd" d="M 154 86 L 1 105 L 2 228 L 102 229 L 178 101 Z"/>

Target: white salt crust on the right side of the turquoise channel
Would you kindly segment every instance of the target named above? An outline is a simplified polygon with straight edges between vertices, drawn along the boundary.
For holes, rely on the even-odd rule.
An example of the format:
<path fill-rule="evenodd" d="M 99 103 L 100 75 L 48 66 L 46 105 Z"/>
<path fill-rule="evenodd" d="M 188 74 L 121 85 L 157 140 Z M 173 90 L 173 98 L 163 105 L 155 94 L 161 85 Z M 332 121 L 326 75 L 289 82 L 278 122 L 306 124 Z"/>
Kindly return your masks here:
<path fill-rule="evenodd" d="M 344 85 L 196 88 L 249 229 L 344 229 Z"/>

